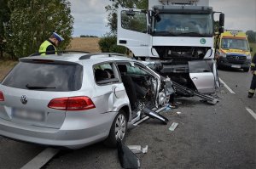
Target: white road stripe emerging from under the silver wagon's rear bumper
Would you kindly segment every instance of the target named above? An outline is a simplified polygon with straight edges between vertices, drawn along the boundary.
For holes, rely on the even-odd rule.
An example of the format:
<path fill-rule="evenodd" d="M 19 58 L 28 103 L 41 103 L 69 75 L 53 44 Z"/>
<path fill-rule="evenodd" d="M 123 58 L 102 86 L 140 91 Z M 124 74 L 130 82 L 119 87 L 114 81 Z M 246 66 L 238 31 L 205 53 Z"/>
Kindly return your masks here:
<path fill-rule="evenodd" d="M 32 159 L 32 161 L 29 161 L 26 163 L 25 166 L 22 166 L 21 169 L 38 169 L 44 166 L 53 156 L 55 156 L 60 149 L 44 149 L 39 155 L 37 155 L 35 158 Z"/>

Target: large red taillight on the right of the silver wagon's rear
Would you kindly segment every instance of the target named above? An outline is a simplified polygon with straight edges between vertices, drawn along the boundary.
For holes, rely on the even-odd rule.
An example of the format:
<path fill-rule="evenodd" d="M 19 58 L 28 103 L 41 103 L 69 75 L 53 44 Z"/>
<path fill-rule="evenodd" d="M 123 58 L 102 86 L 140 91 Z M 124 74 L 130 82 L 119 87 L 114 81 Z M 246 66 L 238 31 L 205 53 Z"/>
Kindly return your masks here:
<path fill-rule="evenodd" d="M 86 96 L 50 100 L 48 107 L 55 110 L 90 110 L 95 104 Z"/>

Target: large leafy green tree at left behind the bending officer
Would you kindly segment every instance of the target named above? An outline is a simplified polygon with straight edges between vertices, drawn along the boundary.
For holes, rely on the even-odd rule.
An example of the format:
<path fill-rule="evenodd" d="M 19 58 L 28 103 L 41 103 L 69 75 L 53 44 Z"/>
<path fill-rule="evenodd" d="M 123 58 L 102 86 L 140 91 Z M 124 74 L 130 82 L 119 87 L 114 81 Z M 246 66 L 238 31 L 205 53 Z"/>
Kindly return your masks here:
<path fill-rule="evenodd" d="M 45 39 L 56 31 L 66 48 L 73 32 L 71 3 L 66 0 L 0 0 L 0 59 L 18 59 L 38 52 Z"/>

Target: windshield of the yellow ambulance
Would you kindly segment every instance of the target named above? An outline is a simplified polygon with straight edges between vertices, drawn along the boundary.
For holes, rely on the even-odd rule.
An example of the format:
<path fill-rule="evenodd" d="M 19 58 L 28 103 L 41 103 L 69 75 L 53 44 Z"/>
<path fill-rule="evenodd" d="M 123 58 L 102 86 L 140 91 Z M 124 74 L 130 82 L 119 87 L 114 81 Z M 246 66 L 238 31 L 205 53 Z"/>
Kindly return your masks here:
<path fill-rule="evenodd" d="M 249 50 L 247 39 L 223 38 L 221 48 Z"/>

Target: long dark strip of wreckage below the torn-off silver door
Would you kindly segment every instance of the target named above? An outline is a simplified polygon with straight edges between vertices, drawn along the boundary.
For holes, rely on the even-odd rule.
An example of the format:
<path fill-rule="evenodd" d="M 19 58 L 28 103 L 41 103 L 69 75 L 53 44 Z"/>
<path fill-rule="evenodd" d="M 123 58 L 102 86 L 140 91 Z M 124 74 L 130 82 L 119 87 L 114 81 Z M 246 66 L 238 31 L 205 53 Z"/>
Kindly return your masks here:
<path fill-rule="evenodd" d="M 218 99 L 215 99 L 212 96 L 209 96 L 207 94 L 196 92 L 188 87 L 183 87 L 177 82 L 172 82 L 172 85 L 175 88 L 177 93 L 183 93 L 183 95 L 188 95 L 189 97 L 197 96 L 201 99 L 206 100 L 208 104 L 212 104 L 212 105 L 215 105 L 218 103 Z"/>

